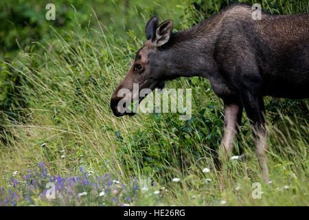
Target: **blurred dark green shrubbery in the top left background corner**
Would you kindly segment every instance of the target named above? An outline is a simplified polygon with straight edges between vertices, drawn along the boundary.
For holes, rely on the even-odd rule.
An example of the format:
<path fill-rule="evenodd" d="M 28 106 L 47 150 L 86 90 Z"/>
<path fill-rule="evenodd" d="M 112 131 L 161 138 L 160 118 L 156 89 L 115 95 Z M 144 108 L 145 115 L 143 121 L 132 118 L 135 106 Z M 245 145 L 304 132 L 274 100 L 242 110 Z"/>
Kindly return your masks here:
<path fill-rule="evenodd" d="M 0 26 L 0 47 L 3 48 L 1 54 L 12 53 L 19 48 L 23 50 L 33 41 L 51 37 L 54 34 L 52 28 L 57 28 L 60 33 L 65 32 L 71 28 L 71 20 L 74 17 L 80 21 L 81 27 L 88 25 L 91 3 L 80 0 L 54 1 L 55 21 L 45 19 L 47 3 L 49 1 L 1 1 L 0 19 L 3 21 Z M 97 1 L 92 1 L 92 3 L 98 4 Z"/>

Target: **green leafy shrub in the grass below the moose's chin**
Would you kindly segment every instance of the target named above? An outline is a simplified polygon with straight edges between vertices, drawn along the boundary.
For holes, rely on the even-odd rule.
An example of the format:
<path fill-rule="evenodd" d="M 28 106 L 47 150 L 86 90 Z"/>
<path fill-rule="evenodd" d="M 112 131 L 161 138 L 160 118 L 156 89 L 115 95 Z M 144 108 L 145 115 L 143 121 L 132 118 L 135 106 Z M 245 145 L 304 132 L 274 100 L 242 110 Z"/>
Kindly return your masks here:
<path fill-rule="evenodd" d="M 142 131 L 137 129 L 127 137 L 115 132 L 119 157 L 129 170 L 169 173 L 170 168 L 189 167 L 205 155 L 217 156 L 223 124 L 218 105 L 205 106 L 187 121 L 179 120 L 178 113 L 151 113 L 149 118 Z"/>

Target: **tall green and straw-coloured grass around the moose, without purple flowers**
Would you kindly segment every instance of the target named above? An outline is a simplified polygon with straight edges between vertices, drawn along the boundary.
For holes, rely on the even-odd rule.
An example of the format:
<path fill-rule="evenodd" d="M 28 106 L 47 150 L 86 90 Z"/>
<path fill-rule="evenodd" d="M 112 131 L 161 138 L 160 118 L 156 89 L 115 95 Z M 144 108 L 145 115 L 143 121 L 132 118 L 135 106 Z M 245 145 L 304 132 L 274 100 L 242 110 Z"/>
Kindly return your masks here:
<path fill-rule="evenodd" d="M 171 9 L 155 4 L 161 19 L 174 19 L 177 30 L 187 28 L 187 4 L 172 3 L 178 6 Z M 139 7 L 151 5 L 144 4 Z M 76 176 L 82 166 L 94 175 L 121 172 L 124 182 L 137 177 L 139 190 L 130 201 L 132 206 L 222 206 L 222 201 L 225 206 L 308 206 L 307 102 L 281 100 L 279 103 L 285 104 L 280 106 L 265 98 L 268 109 L 273 108 L 267 122 L 271 184 L 260 178 L 244 114 L 234 151 L 234 155 L 244 154 L 244 159 L 230 161 L 224 171 L 223 190 L 215 166 L 222 135 L 222 101 L 207 80 L 181 78 L 167 85 L 192 88 L 192 120 L 180 121 L 177 113 L 113 116 L 111 94 L 145 40 L 144 25 L 150 17 L 147 10 L 130 13 L 135 28 L 125 36 L 125 30 L 118 31 L 116 24 L 98 23 L 95 29 L 84 29 L 74 21 L 73 30 L 58 34 L 55 29 L 54 39 L 37 43 L 40 50 L 16 56 L 14 69 L 23 76 L 20 89 L 26 108 L 14 108 L 19 120 L 2 113 L 6 142 L 0 143 L 0 186 L 7 190 L 14 171 L 19 171 L 16 178 L 21 178 L 43 162 L 55 175 Z M 43 143 L 46 146 L 41 146 Z M 203 173 L 204 168 L 209 168 L 209 173 Z M 172 181 L 175 177 L 180 181 Z M 261 199 L 252 197 L 255 182 L 262 184 Z M 154 195 L 155 190 L 161 194 Z M 102 205 L 93 195 L 82 197 L 87 199 L 84 202 L 56 203 L 38 199 L 38 193 L 33 195 L 38 206 Z"/>

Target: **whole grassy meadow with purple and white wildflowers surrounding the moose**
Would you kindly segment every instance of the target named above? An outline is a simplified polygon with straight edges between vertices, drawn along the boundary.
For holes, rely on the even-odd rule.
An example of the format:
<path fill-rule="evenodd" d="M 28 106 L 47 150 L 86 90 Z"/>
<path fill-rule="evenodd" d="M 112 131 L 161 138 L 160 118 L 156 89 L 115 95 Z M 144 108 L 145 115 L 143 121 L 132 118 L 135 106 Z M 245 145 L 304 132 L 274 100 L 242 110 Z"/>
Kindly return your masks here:
<path fill-rule="evenodd" d="M 153 14 L 179 31 L 229 2 L 93 1 L 79 11 L 67 1 L 65 12 L 56 4 L 56 21 L 45 20 L 45 3 L 36 6 L 44 34 L 25 45 L 21 37 L 0 56 L 1 206 L 308 206 L 308 100 L 264 98 L 269 184 L 244 113 L 223 190 L 216 166 L 223 104 L 207 80 L 166 86 L 192 89 L 187 121 L 179 113 L 116 118 L 110 109 Z M 258 2 L 274 14 L 308 12 L 308 1 Z M 56 23 L 57 7 L 65 26 Z M 49 182 L 54 198 L 46 196 Z"/>

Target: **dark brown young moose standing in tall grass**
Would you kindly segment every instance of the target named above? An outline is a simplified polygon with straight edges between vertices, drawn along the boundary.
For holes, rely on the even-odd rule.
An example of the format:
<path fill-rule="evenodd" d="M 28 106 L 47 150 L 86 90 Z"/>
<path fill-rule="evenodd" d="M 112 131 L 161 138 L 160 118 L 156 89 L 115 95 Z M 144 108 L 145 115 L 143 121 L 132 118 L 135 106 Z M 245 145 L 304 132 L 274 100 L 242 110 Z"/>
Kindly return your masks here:
<path fill-rule="evenodd" d="M 236 3 L 194 27 L 172 32 L 173 21 L 152 17 L 146 42 L 111 97 L 115 116 L 133 115 L 119 104 L 120 89 L 162 88 L 165 81 L 202 76 L 224 102 L 222 159 L 232 154 L 246 111 L 261 175 L 268 182 L 264 96 L 309 98 L 309 13 L 273 15 Z M 133 95 L 130 97 L 133 100 Z M 141 102 L 143 97 L 139 98 Z M 126 109 L 126 111 L 124 111 Z"/>

